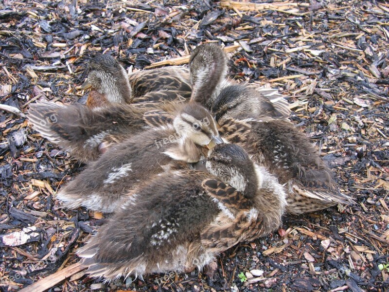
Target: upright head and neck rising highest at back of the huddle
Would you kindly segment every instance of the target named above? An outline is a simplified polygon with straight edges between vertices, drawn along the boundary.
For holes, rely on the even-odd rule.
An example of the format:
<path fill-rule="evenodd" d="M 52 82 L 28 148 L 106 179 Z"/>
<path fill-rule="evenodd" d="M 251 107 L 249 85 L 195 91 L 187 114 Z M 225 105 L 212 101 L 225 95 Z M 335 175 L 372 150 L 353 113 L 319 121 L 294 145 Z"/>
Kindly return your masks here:
<path fill-rule="evenodd" d="M 212 93 L 227 75 L 227 56 L 214 43 L 199 45 L 189 59 L 191 100 L 208 106 Z"/>

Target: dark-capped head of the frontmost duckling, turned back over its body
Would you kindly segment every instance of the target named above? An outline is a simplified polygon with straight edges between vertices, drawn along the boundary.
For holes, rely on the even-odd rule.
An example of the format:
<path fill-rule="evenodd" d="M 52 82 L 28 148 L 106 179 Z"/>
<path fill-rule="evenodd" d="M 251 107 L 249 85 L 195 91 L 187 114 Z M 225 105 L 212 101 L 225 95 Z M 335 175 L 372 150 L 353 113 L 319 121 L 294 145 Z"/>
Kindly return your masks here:
<path fill-rule="evenodd" d="M 222 182 L 229 184 L 247 198 L 253 198 L 257 190 L 254 163 L 242 147 L 219 144 L 208 153 L 207 170 Z"/>

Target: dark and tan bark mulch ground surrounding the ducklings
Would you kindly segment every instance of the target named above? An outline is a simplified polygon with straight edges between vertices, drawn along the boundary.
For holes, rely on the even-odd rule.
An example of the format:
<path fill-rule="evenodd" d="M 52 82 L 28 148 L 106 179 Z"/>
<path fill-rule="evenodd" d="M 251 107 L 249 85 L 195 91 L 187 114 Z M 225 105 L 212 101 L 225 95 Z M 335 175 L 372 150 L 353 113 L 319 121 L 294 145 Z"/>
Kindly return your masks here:
<path fill-rule="evenodd" d="M 0 103 L 21 112 L 40 100 L 85 102 L 79 86 L 97 52 L 138 70 L 184 64 L 204 41 L 235 45 L 230 77 L 278 88 L 357 202 L 285 216 L 278 232 L 223 253 L 213 279 L 194 271 L 102 283 L 75 251 L 105 216 L 55 199 L 84 165 L 22 113 L 0 111 L 1 291 L 388 290 L 386 1 L 4 0 L 0 20 Z"/>

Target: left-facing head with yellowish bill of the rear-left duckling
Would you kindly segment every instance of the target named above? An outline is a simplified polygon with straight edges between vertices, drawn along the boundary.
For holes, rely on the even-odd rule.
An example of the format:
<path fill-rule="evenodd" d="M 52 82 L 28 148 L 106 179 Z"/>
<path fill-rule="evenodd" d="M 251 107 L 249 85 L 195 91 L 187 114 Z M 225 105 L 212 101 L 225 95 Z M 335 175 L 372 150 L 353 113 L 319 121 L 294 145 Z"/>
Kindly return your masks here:
<path fill-rule="evenodd" d="M 81 89 L 89 87 L 103 94 L 110 103 L 129 103 L 131 87 L 124 68 L 110 55 L 98 54 L 88 64 L 88 80 Z"/>

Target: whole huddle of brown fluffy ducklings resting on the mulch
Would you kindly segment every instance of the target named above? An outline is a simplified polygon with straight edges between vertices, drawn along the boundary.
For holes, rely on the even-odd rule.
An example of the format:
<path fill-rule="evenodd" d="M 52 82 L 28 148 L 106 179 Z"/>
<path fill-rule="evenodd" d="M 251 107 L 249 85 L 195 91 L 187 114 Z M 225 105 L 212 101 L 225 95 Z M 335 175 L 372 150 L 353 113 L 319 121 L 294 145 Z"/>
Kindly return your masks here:
<path fill-rule="evenodd" d="M 78 251 L 91 276 L 202 269 L 284 213 L 353 203 L 283 98 L 228 79 L 220 46 L 199 45 L 189 69 L 127 75 L 97 55 L 88 70 L 87 105 L 37 103 L 29 120 L 88 164 L 58 192 L 63 206 L 113 213 Z"/>

